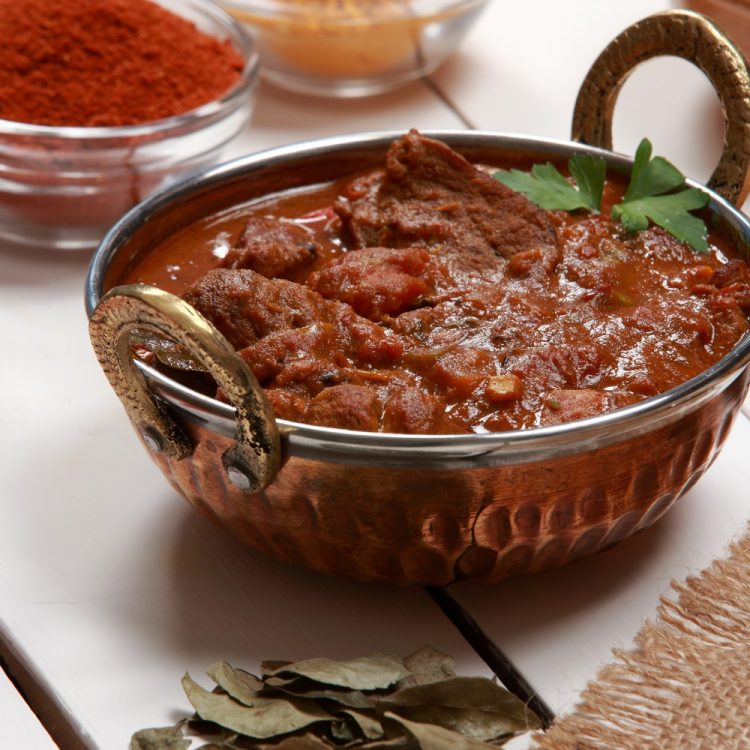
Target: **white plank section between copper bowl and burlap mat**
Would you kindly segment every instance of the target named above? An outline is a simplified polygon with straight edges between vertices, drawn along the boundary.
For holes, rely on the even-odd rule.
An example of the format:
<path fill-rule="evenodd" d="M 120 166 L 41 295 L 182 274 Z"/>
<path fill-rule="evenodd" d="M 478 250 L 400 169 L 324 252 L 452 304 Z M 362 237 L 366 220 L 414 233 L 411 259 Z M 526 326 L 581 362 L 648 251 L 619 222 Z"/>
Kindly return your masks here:
<path fill-rule="evenodd" d="M 450 593 L 556 712 L 569 711 L 614 647 L 628 647 L 672 579 L 702 570 L 750 521 L 750 420 L 655 526 L 556 571 Z"/>

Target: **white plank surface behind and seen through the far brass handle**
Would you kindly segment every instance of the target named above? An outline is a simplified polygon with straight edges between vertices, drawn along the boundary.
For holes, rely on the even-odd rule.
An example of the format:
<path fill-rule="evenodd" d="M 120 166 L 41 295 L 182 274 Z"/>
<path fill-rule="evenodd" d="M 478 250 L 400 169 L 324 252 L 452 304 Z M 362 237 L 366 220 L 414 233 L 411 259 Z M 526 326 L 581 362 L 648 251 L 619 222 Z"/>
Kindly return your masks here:
<path fill-rule="evenodd" d="M 477 128 L 566 140 L 578 89 L 597 55 L 631 23 L 672 5 L 495 0 L 433 78 Z M 710 175 L 723 128 L 718 101 L 697 68 L 662 58 L 628 79 L 615 111 L 615 150 L 632 154 L 644 136 L 689 176 Z"/>

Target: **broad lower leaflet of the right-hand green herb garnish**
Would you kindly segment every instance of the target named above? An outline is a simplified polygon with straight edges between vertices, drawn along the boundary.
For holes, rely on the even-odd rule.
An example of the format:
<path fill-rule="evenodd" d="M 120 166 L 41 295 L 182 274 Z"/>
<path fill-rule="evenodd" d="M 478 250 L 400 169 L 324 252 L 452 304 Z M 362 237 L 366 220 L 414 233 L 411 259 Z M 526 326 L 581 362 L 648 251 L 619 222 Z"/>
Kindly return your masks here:
<path fill-rule="evenodd" d="M 673 237 L 705 253 L 708 251 L 708 229 L 702 219 L 689 212 L 704 208 L 707 204 L 706 193 L 697 188 L 688 188 L 679 193 L 623 201 L 613 207 L 612 216 L 619 219 L 629 232 L 646 229 L 651 219 Z"/>

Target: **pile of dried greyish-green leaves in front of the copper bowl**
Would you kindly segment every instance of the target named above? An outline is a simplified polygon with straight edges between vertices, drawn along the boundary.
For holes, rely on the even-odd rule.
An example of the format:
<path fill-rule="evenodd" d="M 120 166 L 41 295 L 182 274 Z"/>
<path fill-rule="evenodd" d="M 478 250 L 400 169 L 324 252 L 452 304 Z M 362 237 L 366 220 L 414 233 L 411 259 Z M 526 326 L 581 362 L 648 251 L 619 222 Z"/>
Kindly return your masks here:
<path fill-rule="evenodd" d="M 197 712 L 187 734 L 208 742 L 196 750 L 478 750 L 540 726 L 495 681 L 456 677 L 453 659 L 429 646 L 404 660 L 375 654 L 261 668 L 259 680 L 213 664 L 213 692 L 185 675 Z M 186 750 L 184 724 L 137 733 L 131 750 Z"/>

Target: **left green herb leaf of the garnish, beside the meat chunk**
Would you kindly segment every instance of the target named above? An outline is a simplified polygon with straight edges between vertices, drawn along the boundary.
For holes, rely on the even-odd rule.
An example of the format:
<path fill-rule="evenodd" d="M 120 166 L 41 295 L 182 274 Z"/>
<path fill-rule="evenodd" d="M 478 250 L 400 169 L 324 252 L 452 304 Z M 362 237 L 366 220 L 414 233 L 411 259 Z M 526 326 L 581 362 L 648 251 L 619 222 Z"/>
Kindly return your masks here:
<path fill-rule="evenodd" d="M 573 160 L 571 159 L 571 162 Z M 578 188 L 568 182 L 553 164 L 535 164 L 531 173 L 522 172 L 519 169 L 510 171 L 500 169 L 494 173 L 494 177 L 511 190 L 523 193 L 529 200 L 550 211 L 575 211 L 585 208 L 590 211 L 598 211 L 601 206 L 601 189 L 596 195 L 596 186 L 599 184 L 599 176 L 602 169 L 595 164 L 601 159 L 591 161 L 579 159 L 576 161 L 580 182 Z M 572 169 L 571 169 L 572 172 Z M 603 187 L 604 180 L 601 179 Z M 583 187 L 582 187 L 583 186 Z"/>

